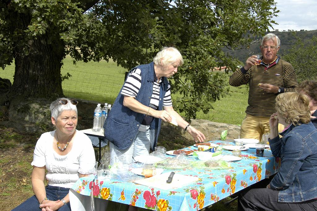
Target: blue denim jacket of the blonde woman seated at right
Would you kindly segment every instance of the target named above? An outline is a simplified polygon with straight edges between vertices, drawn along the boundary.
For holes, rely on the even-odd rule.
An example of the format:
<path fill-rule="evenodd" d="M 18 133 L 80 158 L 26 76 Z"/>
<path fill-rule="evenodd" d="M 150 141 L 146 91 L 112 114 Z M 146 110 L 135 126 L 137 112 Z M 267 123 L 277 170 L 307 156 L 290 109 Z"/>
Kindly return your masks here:
<path fill-rule="evenodd" d="M 301 202 L 317 198 L 317 129 L 308 124 L 291 125 L 269 140 L 272 154 L 280 157 L 279 172 L 270 187 L 279 190 L 279 202 Z"/>

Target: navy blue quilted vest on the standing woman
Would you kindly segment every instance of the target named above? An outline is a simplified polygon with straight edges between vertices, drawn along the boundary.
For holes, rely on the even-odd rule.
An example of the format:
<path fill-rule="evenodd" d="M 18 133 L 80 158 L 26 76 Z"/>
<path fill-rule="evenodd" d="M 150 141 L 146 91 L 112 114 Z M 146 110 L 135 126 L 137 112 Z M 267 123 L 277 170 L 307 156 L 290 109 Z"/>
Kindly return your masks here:
<path fill-rule="evenodd" d="M 153 92 L 154 63 L 139 65 L 135 68 L 141 70 L 141 87 L 135 99 L 143 105 L 149 106 Z M 159 110 L 163 109 L 163 99 L 168 88 L 167 78 L 162 77 L 161 80 Z M 124 95 L 120 94 L 122 89 L 123 86 L 117 99 L 113 103 L 111 112 L 108 113 L 104 128 L 106 139 L 111 141 L 119 149 L 125 150 L 131 146 L 136 138 L 145 114 L 134 112 L 123 105 Z M 153 149 L 157 143 L 160 126 L 161 119 L 154 118 L 150 125 L 151 149 Z"/>

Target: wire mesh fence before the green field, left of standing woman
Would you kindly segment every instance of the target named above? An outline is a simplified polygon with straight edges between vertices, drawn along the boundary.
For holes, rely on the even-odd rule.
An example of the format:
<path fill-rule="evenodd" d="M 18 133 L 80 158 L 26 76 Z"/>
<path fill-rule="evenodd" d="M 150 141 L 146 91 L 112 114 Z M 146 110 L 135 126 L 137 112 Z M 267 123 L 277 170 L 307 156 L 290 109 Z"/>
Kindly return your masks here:
<path fill-rule="evenodd" d="M 0 70 L 0 77 L 8 78 L 13 83 L 14 71 L 14 65 L 7 66 Z M 65 96 L 101 103 L 113 103 L 125 79 L 125 73 L 122 71 L 117 74 L 95 74 L 75 69 L 61 69 L 62 75 L 67 73 L 70 73 L 71 77 L 62 82 Z"/>

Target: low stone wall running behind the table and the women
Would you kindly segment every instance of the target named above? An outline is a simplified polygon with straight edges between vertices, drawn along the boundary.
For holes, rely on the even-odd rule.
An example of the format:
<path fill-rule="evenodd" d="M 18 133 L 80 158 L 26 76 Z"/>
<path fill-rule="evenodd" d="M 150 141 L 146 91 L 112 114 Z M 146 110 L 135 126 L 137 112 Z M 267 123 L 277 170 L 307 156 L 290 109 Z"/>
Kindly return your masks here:
<path fill-rule="evenodd" d="M 78 125 L 77 129 L 91 128 L 93 125 L 93 113 L 97 102 L 77 99 Z M 53 130 L 50 119 L 49 105 L 52 101 L 47 99 L 29 99 L 11 105 L 7 111 L 8 121 L 2 121 L 0 124 L 7 127 L 16 128 L 21 132 L 40 132 L 44 133 Z M 103 105 L 102 105 L 103 106 Z M 239 136 L 240 126 L 211 122 L 204 119 L 195 119 L 191 125 L 200 130 L 206 136 L 206 140 L 220 139 L 223 130 L 228 130 L 227 139 L 235 139 Z M 160 140 L 186 139 L 192 141 L 192 136 L 183 129 L 163 123 Z"/>

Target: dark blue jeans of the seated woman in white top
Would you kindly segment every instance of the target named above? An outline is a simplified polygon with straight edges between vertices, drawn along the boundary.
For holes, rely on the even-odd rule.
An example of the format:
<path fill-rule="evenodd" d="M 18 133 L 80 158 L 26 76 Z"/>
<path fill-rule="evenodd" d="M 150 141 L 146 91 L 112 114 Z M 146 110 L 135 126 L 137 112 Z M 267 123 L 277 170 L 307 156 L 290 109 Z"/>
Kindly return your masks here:
<path fill-rule="evenodd" d="M 45 187 L 46 197 L 51 201 L 63 199 L 69 192 L 69 188 L 48 185 Z M 35 195 L 24 201 L 22 204 L 14 208 L 12 211 L 35 211 L 40 210 L 39 201 Z M 58 211 L 70 211 L 70 203 L 62 206 Z"/>

